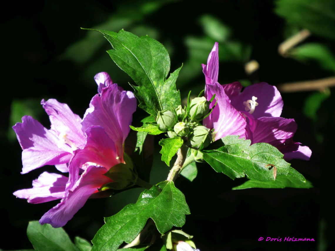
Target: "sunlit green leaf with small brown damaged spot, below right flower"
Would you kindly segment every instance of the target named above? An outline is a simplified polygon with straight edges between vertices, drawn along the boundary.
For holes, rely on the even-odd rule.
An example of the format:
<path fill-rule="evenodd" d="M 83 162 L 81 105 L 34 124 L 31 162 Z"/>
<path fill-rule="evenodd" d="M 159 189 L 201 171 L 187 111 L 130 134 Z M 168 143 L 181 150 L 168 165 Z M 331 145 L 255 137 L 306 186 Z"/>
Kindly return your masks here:
<path fill-rule="evenodd" d="M 275 167 L 278 176 L 291 172 L 292 176 L 306 182 L 282 159 L 283 154 L 276 147 L 267 143 L 250 143 L 250 140 L 239 139 L 239 136 L 226 136 L 202 150 L 203 159 L 216 172 L 222 172 L 231 179 L 247 175 L 252 180 L 273 181 Z"/>

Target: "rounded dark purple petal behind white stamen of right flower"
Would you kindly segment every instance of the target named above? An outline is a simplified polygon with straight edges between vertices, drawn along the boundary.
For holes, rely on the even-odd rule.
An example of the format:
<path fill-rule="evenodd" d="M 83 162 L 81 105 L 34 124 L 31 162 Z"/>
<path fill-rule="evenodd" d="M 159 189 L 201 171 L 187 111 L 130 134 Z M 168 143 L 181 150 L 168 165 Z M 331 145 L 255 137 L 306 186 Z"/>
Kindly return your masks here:
<path fill-rule="evenodd" d="M 265 82 L 247 86 L 239 96 L 231 98 L 231 104 L 239 111 L 245 111 L 244 101 L 257 98 L 256 106 L 252 114 L 255 119 L 261 117 L 280 117 L 283 109 L 283 100 L 277 88 Z"/>

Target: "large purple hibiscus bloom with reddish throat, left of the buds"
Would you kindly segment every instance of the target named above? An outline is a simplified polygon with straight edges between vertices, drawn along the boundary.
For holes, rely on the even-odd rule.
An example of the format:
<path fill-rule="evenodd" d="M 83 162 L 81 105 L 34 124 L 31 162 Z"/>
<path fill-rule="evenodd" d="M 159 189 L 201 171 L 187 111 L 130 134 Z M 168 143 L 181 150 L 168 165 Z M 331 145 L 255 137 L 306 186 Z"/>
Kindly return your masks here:
<path fill-rule="evenodd" d="M 14 192 L 29 203 L 61 199 L 42 216 L 41 224 L 64 226 L 90 195 L 113 182 L 104 174 L 124 163 L 123 143 L 130 131 L 136 99 L 132 92 L 113 84 L 106 72 L 96 74 L 94 79 L 99 94 L 92 98 L 83 120 L 66 104 L 42 100 L 51 121 L 50 130 L 30 116 L 13 126 L 23 149 L 22 174 L 55 165 L 69 175 L 44 172 L 33 181 L 33 188 Z"/>

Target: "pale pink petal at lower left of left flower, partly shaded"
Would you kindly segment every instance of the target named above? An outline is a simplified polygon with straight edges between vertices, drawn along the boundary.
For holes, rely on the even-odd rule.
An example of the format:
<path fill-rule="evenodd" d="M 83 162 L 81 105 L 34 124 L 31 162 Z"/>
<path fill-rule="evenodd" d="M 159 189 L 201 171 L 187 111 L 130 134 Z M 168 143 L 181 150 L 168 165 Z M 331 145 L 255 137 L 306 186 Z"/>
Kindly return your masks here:
<path fill-rule="evenodd" d="M 18 198 L 27 199 L 32 204 L 61 199 L 65 195 L 68 179 L 60 174 L 44 172 L 38 179 L 32 181 L 33 188 L 18 190 L 13 194 Z"/>

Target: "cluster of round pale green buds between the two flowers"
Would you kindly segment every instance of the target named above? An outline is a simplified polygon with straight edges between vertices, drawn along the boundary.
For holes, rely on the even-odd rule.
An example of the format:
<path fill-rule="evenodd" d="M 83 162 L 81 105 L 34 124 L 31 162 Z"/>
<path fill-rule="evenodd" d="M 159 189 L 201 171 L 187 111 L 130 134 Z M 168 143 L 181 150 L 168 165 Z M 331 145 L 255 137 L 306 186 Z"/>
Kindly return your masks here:
<path fill-rule="evenodd" d="M 191 102 L 188 100 L 188 105 L 184 109 L 180 105 L 175 111 L 159 111 L 156 119 L 158 129 L 167 132 L 170 138 L 184 137 L 189 147 L 199 150 L 207 147 L 213 141 L 212 133 L 199 122 L 210 114 L 209 104 L 212 100 L 197 97 Z"/>

